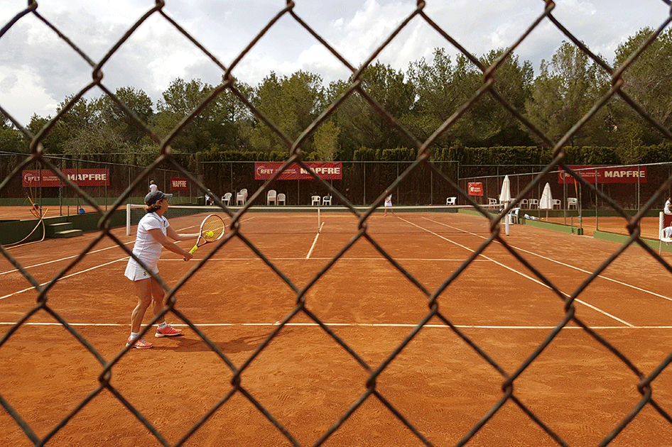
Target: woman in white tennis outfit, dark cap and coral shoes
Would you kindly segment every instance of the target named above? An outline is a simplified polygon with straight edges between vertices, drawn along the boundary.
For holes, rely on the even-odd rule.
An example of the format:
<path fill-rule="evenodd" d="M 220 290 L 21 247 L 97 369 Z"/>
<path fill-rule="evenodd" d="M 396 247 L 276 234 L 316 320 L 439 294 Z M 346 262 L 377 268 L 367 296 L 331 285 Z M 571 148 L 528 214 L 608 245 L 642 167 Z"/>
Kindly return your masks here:
<path fill-rule="evenodd" d="M 161 191 L 150 192 L 145 196 L 146 214 L 138 223 L 138 233 L 136 234 L 133 253 L 145 263 L 152 272 L 158 273 L 158 259 L 161 257 L 161 248 L 166 247 L 173 253 L 183 256 L 185 260 L 190 260 L 193 255 L 184 250 L 174 242 L 168 241 L 188 241 L 198 237 L 195 234 L 178 234 L 168 223 L 168 219 L 163 217 L 163 213 L 168 210 L 168 199 L 173 194 L 163 194 Z M 131 336 L 126 342 L 126 346 L 133 346 L 138 349 L 147 349 L 152 347 L 144 338 L 139 338 L 140 327 L 145 312 L 150 304 L 154 314 L 158 314 L 163 307 L 163 288 L 151 277 L 146 270 L 139 265 L 133 258 L 129 258 L 124 275 L 134 282 L 135 292 L 138 296 L 138 304 L 131 313 Z M 166 323 L 164 319 L 156 329 L 155 337 L 173 337 L 182 333 L 181 329 L 175 329 Z"/>

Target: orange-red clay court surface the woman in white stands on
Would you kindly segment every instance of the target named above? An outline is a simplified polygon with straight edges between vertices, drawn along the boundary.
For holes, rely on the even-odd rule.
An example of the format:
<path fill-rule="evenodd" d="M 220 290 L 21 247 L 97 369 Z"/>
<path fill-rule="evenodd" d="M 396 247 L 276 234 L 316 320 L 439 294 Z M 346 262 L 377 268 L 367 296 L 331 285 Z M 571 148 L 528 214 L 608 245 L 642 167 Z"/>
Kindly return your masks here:
<path fill-rule="evenodd" d="M 502 228 L 543 280 L 498 241 L 469 262 L 490 235 L 482 216 L 395 211 L 368 219 L 371 241 L 357 239 L 358 221 L 345 211 L 319 221 L 315 210 L 241 216 L 239 235 L 254 250 L 228 239 L 176 294 L 175 310 L 224 358 L 168 314 L 184 336 L 148 337 L 153 349 L 117 359 L 136 299 L 123 276 L 128 255 L 110 238 L 70 269 L 98 233 L 13 247 L 36 282 L 63 272 L 45 306 L 99 358 L 44 309 L 11 332 L 38 294 L 3 258 L 0 394 L 31 436 L 55 431 L 48 446 L 595 446 L 605 438 L 653 446 L 672 438 L 668 272 L 644 249 L 627 248 L 592 280 L 563 327 L 572 310 L 545 282 L 572 295 L 619 244 Z M 202 217 L 170 223 L 194 231 Z M 132 246 L 124 228 L 112 233 Z M 163 250 L 161 277 L 173 287 L 213 246 L 188 263 Z M 431 308 L 428 296 L 446 282 Z M 6 445 L 34 445 L 6 412 L 0 427 Z"/>

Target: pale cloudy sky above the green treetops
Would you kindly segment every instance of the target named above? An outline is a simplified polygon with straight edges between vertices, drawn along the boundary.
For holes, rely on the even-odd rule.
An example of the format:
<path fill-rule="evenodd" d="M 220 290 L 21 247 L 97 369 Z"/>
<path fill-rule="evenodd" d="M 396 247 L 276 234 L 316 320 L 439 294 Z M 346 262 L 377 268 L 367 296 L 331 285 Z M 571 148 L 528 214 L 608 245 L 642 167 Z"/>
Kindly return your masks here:
<path fill-rule="evenodd" d="M 286 0 L 165 0 L 163 11 L 220 62 L 229 66 L 251 40 L 286 6 Z M 26 0 L 0 0 L 6 26 L 26 8 Z M 38 0 L 38 13 L 98 62 L 155 0 Z M 353 67 L 381 45 L 416 7 L 416 0 L 295 0 L 294 12 Z M 543 0 L 426 0 L 425 13 L 476 56 L 506 48 L 543 13 Z M 553 16 L 594 52 L 612 63 L 619 43 L 644 27 L 658 28 L 670 13 L 663 0 L 556 0 Z M 546 20 L 516 50 L 532 62 L 550 60 L 563 40 Z M 396 70 L 433 49 L 456 53 L 421 18 L 384 49 L 380 62 Z M 283 16 L 237 65 L 234 76 L 256 86 L 271 71 L 291 75 L 306 70 L 325 82 L 347 79 L 342 63 L 291 16 Z M 91 82 L 91 68 L 33 14 L 0 38 L 0 106 L 20 123 L 33 114 L 53 116 L 66 96 Z M 153 14 L 103 68 L 103 82 L 142 89 L 155 101 L 177 77 L 218 84 L 222 70 L 158 14 Z M 89 97 L 100 96 L 99 89 Z"/>

